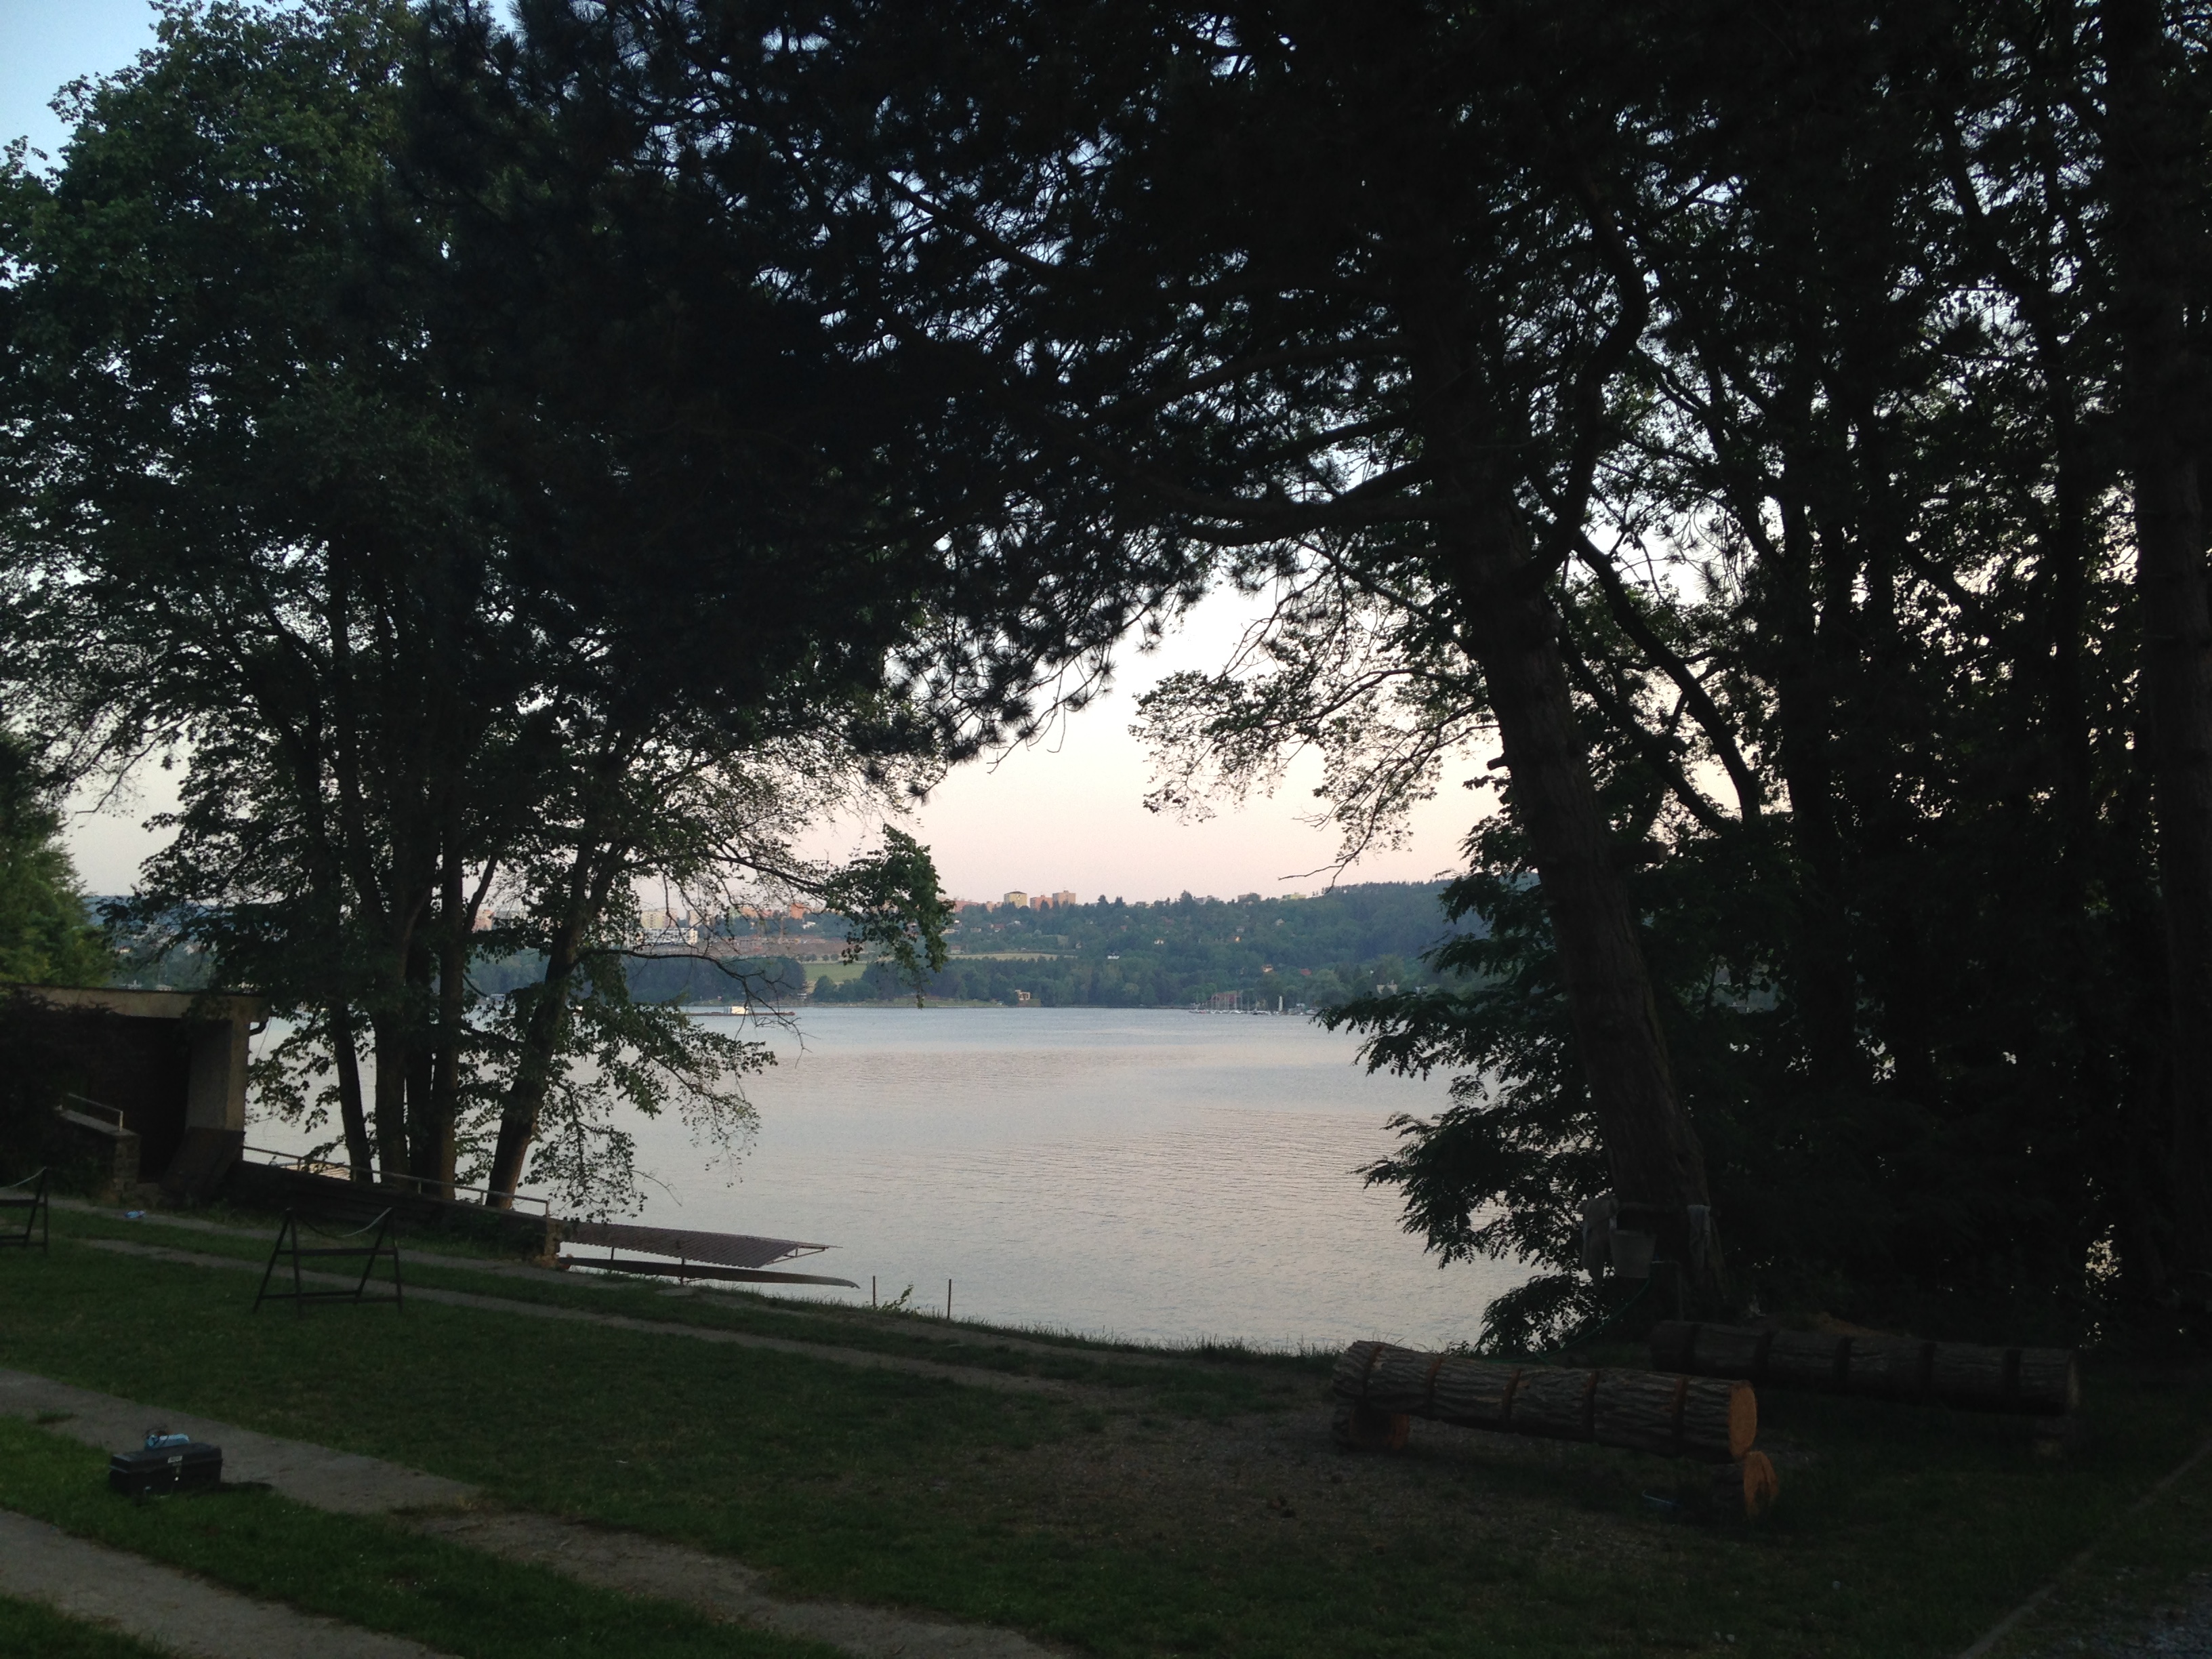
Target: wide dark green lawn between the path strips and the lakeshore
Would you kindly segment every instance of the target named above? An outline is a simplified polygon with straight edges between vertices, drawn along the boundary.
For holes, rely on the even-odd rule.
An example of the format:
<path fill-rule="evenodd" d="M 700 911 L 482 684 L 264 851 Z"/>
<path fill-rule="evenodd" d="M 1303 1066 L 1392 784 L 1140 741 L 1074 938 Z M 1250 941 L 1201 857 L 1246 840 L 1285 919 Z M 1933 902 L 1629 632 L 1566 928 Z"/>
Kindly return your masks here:
<path fill-rule="evenodd" d="M 1703 1471 L 1595 1447 L 1416 1425 L 1407 1455 L 1340 1455 L 1314 1358 L 1040 1356 L 962 1327 L 947 1352 L 920 1345 L 947 1327 L 865 1310 L 451 1274 L 1064 1367 L 1088 1387 L 1062 1400 L 429 1303 L 252 1316 L 243 1274 L 82 1241 L 122 1225 L 64 1212 L 51 1259 L 0 1259 L 0 1365 L 1099 1655 L 1953 1655 L 2212 1431 L 2201 1380 L 2121 1365 L 2090 1369 L 2095 1438 L 2066 1460 L 2002 1420 L 1770 1391 L 1783 1502 L 1750 1526 L 1703 1504 Z M 2161 1506 L 2152 1531 L 2174 1564 L 2212 1559 L 2212 1511 Z"/>

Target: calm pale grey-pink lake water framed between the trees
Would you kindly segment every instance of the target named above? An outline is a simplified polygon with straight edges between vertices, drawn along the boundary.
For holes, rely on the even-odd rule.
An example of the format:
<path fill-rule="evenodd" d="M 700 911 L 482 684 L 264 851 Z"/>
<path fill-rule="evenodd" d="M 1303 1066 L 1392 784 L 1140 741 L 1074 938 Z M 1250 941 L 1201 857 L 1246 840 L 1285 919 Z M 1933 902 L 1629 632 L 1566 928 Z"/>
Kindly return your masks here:
<path fill-rule="evenodd" d="M 1369 1077 L 1296 1018 L 1115 1009 L 805 1009 L 745 1026 L 734 1168 L 672 1119 L 630 1124 L 646 1221 L 836 1245 L 792 1263 L 918 1305 L 1139 1338 L 1438 1345 L 1475 1334 L 1509 1263 L 1438 1270 L 1394 1190 L 1352 1172 L 1444 1079 Z M 265 1135 L 254 1128 L 252 1139 Z M 825 1290 L 849 1301 L 854 1292 Z"/>

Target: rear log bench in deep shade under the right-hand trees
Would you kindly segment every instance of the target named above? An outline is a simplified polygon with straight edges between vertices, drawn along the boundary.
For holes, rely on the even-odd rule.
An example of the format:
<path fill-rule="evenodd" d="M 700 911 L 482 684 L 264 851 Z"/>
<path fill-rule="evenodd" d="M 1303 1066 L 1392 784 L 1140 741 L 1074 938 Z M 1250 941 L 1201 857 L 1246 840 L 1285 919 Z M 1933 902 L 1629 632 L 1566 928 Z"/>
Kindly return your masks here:
<path fill-rule="evenodd" d="M 2068 1347 L 1982 1347 L 1666 1321 L 1652 1332 L 1652 1365 L 1969 1411 L 2057 1418 L 2081 1405 L 2081 1371 Z"/>

